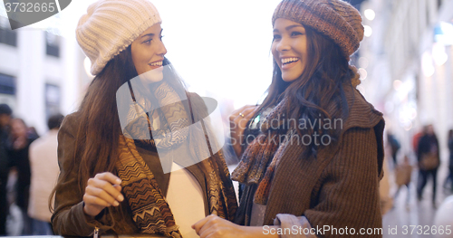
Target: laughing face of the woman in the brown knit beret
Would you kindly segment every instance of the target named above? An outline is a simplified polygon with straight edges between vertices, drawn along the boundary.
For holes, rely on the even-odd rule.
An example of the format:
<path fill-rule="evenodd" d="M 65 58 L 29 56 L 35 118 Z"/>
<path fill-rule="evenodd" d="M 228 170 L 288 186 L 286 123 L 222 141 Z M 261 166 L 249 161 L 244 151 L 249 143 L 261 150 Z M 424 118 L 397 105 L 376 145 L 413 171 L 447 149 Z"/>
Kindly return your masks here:
<path fill-rule="evenodd" d="M 308 60 L 304 25 L 277 18 L 274 23 L 272 54 L 284 81 L 299 79 Z"/>

